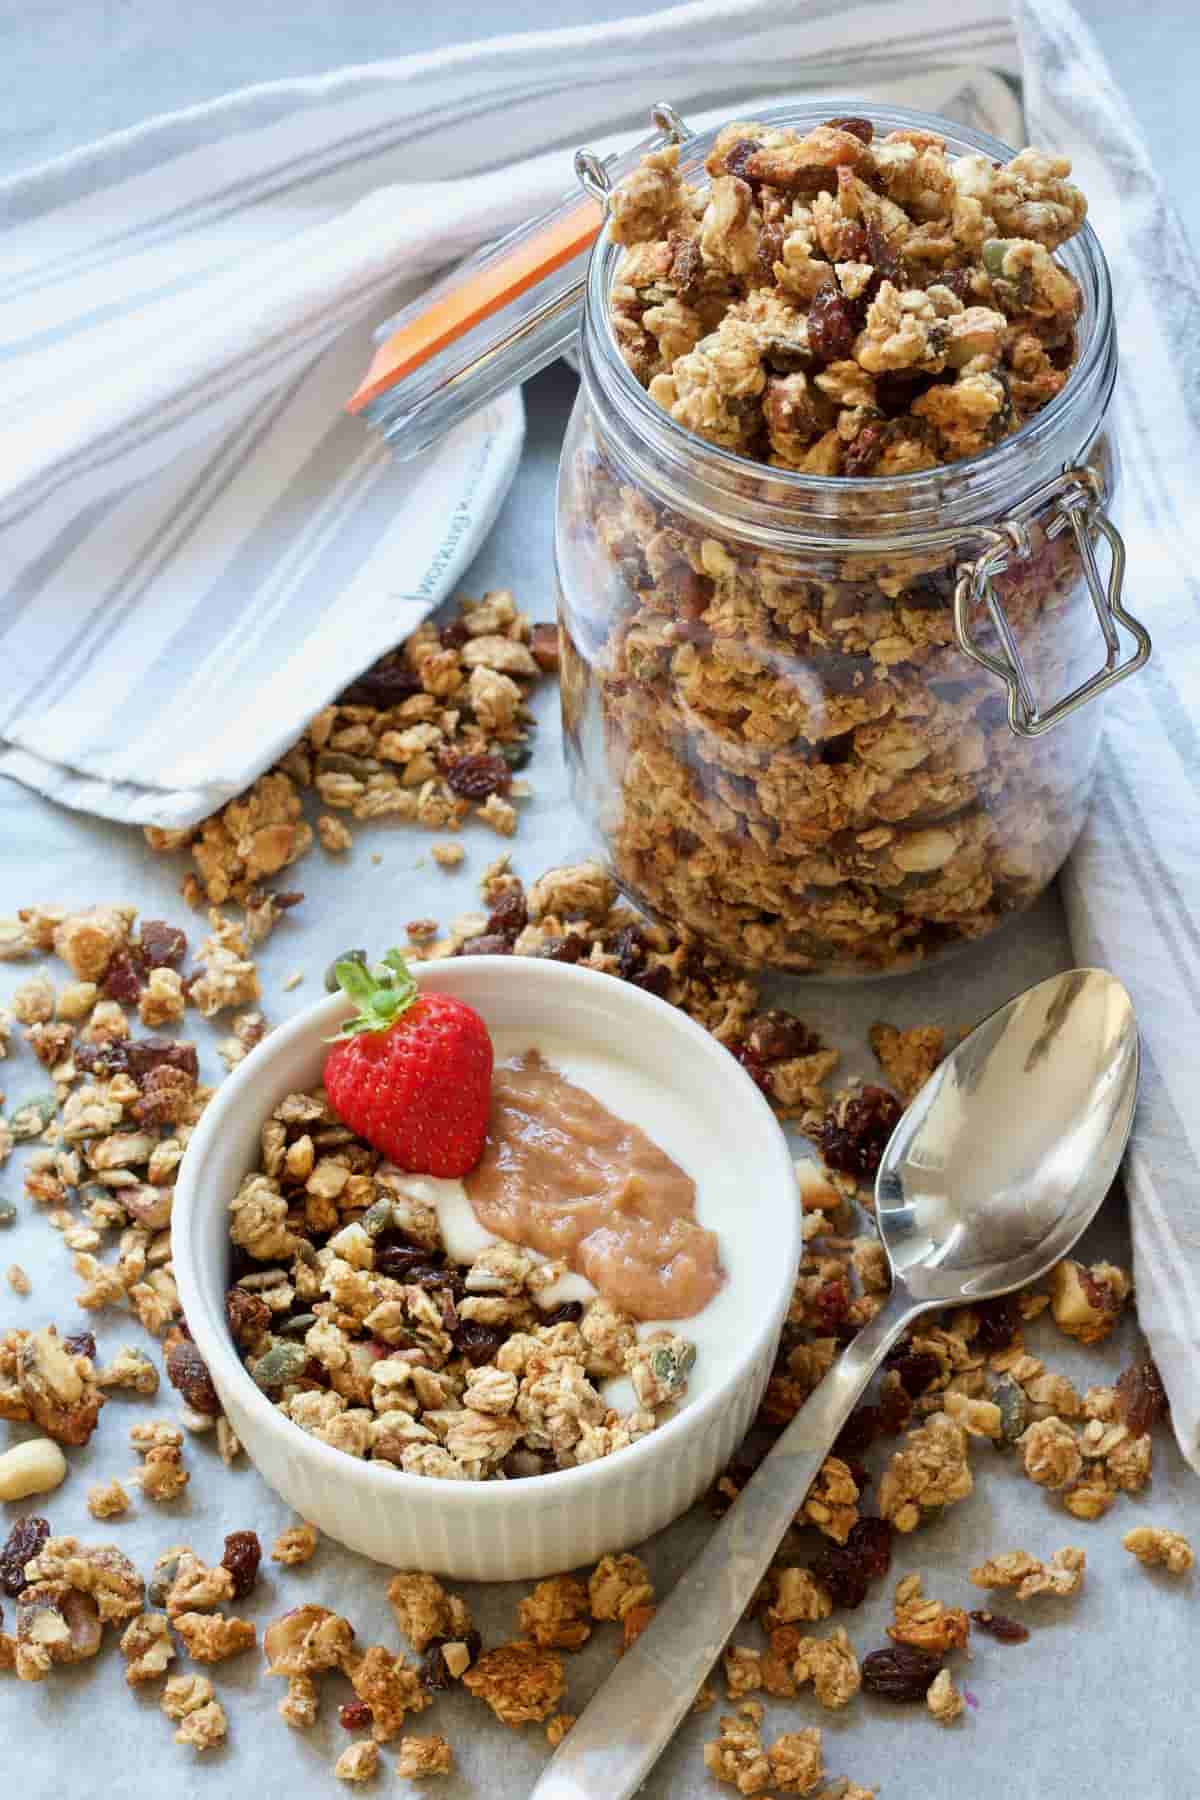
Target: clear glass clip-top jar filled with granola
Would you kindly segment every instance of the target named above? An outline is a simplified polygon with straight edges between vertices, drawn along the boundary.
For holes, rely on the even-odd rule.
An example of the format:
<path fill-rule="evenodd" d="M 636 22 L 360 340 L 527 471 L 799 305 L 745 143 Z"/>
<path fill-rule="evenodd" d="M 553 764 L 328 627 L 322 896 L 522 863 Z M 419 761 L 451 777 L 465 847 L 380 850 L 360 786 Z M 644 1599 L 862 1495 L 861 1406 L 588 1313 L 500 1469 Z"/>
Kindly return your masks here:
<path fill-rule="evenodd" d="M 952 155 L 1011 155 L 862 110 Z M 761 117 L 804 131 L 828 110 Z M 684 142 L 687 178 L 714 135 Z M 619 256 L 608 234 L 592 254 L 556 531 L 567 760 L 617 882 L 734 961 L 822 977 L 986 936 L 1067 857 L 1096 770 L 1087 702 L 1150 652 L 1103 513 L 1117 346 L 1096 236 L 1058 252 L 1083 308 L 1061 392 L 975 457 L 865 479 L 750 463 L 675 423 L 619 353 Z"/>

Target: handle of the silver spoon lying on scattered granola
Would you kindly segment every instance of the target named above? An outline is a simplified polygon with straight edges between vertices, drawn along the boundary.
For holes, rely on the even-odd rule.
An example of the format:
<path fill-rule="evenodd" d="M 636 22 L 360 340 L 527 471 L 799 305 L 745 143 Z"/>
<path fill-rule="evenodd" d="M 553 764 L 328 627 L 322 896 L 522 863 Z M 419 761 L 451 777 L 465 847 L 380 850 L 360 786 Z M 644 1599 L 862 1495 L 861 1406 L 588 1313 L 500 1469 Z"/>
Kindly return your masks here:
<path fill-rule="evenodd" d="M 923 1310 L 901 1283 L 892 1289 L 583 1710 L 531 1800 L 628 1800 L 635 1793 L 754 1598 L 851 1408 Z"/>

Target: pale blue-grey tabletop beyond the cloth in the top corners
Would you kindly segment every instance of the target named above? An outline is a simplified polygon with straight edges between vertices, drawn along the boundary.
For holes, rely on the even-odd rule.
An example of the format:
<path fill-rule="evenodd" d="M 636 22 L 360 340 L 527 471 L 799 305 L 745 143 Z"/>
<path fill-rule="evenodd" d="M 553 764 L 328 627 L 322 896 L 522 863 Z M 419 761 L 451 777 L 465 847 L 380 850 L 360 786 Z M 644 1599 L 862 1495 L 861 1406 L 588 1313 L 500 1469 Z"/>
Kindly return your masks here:
<path fill-rule="evenodd" d="M 919 0 L 914 0 L 919 5 Z M 1076 0 L 1112 63 L 1193 243 L 1200 137 L 1180 128 L 1200 77 L 1196 0 Z M 151 112 L 347 63 L 549 25 L 666 11 L 666 0 L 4 0 L 0 176 Z"/>

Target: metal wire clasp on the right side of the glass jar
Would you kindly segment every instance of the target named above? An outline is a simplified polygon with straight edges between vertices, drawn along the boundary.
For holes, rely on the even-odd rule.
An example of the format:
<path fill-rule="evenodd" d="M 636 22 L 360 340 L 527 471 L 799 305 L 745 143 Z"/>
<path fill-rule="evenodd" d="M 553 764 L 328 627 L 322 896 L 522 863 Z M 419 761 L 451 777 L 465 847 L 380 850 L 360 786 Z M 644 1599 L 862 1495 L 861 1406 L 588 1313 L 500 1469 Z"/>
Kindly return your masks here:
<path fill-rule="evenodd" d="M 1083 562 L 1088 594 L 1105 637 L 1105 666 L 1070 693 L 1042 707 L 1033 691 L 1029 671 L 1024 664 L 1011 621 L 1004 603 L 993 587 L 993 576 L 1002 574 L 1013 560 L 1031 554 L 1029 529 L 1018 518 L 1009 518 L 995 531 L 988 531 L 988 545 L 975 562 L 959 565 L 959 580 L 954 590 L 954 634 L 963 650 L 981 668 L 990 670 L 1007 688 L 1007 722 L 1018 738 L 1040 738 L 1052 731 L 1063 718 L 1076 713 L 1088 700 L 1115 688 L 1126 675 L 1133 675 L 1150 657 L 1150 632 L 1132 612 L 1121 605 L 1124 583 L 1124 544 L 1121 533 L 1103 509 L 1105 484 L 1092 468 L 1063 468 L 1061 475 L 1038 495 L 1038 508 L 1056 502 L 1056 513 L 1045 527 L 1047 538 L 1056 538 L 1063 531 L 1072 531 Z M 1108 580 L 1099 572 L 1096 562 L 1096 536 L 1103 536 L 1112 556 Z M 995 626 L 1002 655 L 991 655 L 972 637 L 972 608 L 982 605 Z M 1135 650 L 1121 661 L 1121 634 L 1117 625 L 1135 643 Z"/>

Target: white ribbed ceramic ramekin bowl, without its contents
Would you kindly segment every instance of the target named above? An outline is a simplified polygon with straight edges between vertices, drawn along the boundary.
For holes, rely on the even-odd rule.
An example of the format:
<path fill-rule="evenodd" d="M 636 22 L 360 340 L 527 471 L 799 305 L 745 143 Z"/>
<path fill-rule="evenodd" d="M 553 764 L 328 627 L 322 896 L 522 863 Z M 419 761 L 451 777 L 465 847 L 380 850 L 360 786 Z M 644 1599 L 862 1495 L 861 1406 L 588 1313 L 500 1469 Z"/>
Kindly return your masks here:
<path fill-rule="evenodd" d="M 684 1013 L 612 976 L 536 958 L 464 956 L 416 968 L 423 988 L 455 994 L 493 1031 L 570 1035 L 621 1058 L 648 1085 L 694 1109 L 693 1175 L 725 1159 L 738 1220 L 745 1336 L 716 1381 L 698 1379 L 678 1413 L 613 1456 L 520 1481 L 443 1481 L 358 1462 L 308 1436 L 263 1395 L 225 1325 L 228 1201 L 257 1165 L 259 1129 L 284 1094 L 320 1082 L 342 995 L 272 1031 L 221 1084 L 180 1168 L 173 1251 L 187 1325 L 230 1424 L 261 1476 L 322 1532 L 392 1568 L 462 1580 L 520 1580 L 596 1561 L 676 1519 L 725 1467 L 763 1397 L 801 1247 L 786 1139 L 734 1058 Z M 730 1222 L 705 1217 L 721 1235 Z M 696 1366 L 696 1377 L 703 1372 Z"/>

